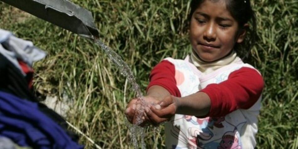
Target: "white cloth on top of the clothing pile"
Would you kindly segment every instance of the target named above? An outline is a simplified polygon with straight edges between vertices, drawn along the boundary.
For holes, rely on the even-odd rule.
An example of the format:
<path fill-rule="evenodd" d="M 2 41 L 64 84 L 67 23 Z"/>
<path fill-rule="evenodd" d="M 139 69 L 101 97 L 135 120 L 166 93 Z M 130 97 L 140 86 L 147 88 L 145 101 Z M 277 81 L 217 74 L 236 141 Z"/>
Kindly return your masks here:
<path fill-rule="evenodd" d="M 0 29 L 0 53 L 19 68 L 18 59 L 32 67 L 33 62 L 39 61 L 46 56 L 46 53 L 35 47 L 31 41 L 15 37 L 11 32 Z M 23 73 L 24 74 L 24 73 Z"/>

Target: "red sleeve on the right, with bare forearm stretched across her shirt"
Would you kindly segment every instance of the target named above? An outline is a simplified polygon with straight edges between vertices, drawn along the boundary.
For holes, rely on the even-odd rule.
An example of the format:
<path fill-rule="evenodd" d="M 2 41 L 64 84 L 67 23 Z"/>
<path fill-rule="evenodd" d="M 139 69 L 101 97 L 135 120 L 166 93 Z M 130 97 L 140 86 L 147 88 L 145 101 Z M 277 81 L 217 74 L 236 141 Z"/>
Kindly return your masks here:
<path fill-rule="evenodd" d="M 211 101 L 206 116 L 224 116 L 237 109 L 249 109 L 261 96 L 263 78 L 254 69 L 242 67 L 232 72 L 226 81 L 209 84 L 201 92 L 208 94 Z"/>

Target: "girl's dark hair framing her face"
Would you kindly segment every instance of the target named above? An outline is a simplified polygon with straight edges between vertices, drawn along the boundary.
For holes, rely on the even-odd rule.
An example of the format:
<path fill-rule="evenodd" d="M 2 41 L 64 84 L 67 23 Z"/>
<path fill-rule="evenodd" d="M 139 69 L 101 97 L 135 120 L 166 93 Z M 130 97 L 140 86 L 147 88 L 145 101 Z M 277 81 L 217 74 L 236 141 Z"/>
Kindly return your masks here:
<path fill-rule="evenodd" d="M 189 22 L 194 11 L 203 3 L 205 0 L 192 0 L 190 3 L 190 13 L 189 13 Z M 220 0 L 210 0 L 213 2 L 217 2 Z M 234 50 L 237 54 L 245 58 L 249 55 L 252 46 L 255 43 L 256 35 L 257 35 L 257 25 L 256 25 L 256 17 L 253 12 L 253 9 L 250 5 L 250 0 L 223 0 L 226 3 L 226 7 L 231 13 L 232 17 L 238 22 L 239 27 L 243 27 L 244 24 L 248 23 L 250 20 L 252 27 L 245 28 L 247 31 L 247 36 L 242 43 L 234 46 Z"/>

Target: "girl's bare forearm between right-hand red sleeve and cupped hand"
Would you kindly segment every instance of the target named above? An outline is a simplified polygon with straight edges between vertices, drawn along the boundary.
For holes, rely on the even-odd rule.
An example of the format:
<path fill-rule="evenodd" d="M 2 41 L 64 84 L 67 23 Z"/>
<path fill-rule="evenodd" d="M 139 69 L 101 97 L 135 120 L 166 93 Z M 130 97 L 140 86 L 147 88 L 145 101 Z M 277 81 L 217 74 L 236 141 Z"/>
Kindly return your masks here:
<path fill-rule="evenodd" d="M 179 98 L 176 114 L 205 116 L 209 113 L 211 102 L 204 92 L 197 92 L 189 96 Z"/>

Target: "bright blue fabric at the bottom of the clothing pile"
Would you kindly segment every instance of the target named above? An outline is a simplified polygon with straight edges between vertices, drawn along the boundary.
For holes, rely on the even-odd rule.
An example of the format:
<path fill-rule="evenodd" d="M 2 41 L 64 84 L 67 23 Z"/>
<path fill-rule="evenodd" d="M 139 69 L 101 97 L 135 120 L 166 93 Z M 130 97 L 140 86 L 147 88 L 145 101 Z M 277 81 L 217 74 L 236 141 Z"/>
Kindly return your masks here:
<path fill-rule="evenodd" d="M 0 91 L 0 136 L 19 146 L 82 149 L 62 128 L 38 110 L 37 103 Z"/>

